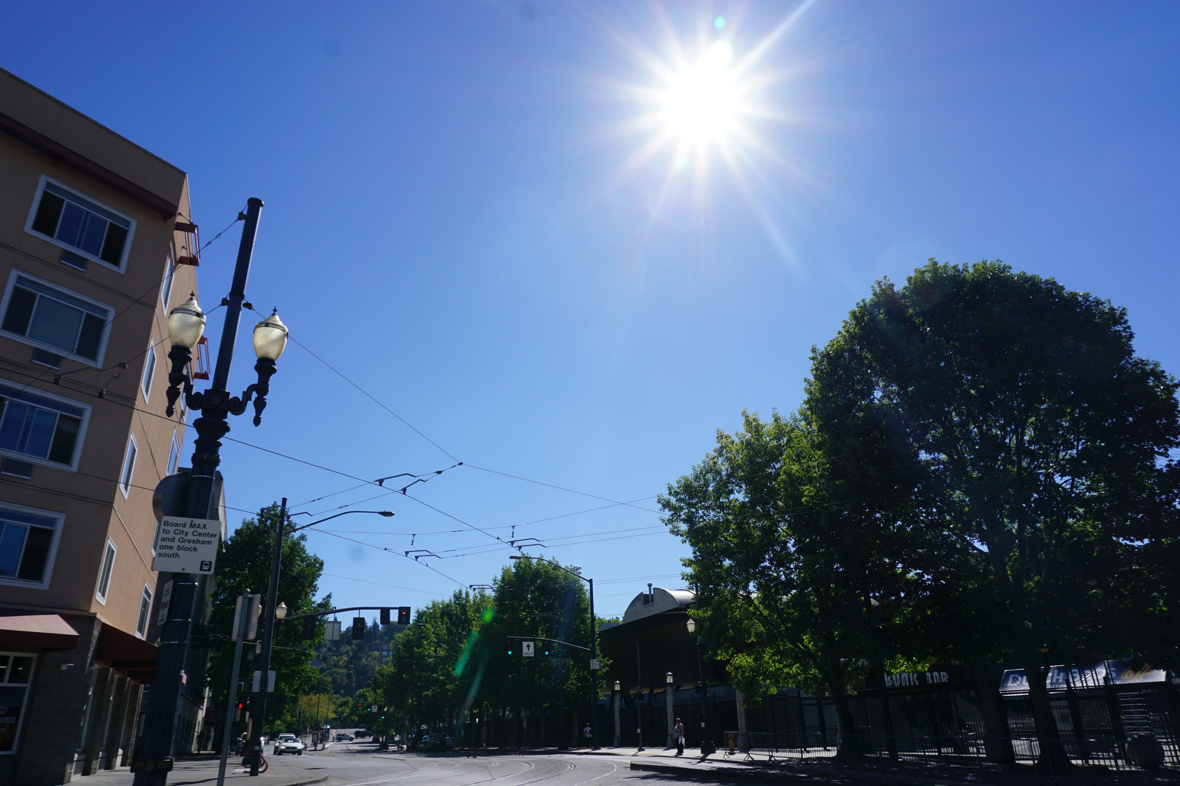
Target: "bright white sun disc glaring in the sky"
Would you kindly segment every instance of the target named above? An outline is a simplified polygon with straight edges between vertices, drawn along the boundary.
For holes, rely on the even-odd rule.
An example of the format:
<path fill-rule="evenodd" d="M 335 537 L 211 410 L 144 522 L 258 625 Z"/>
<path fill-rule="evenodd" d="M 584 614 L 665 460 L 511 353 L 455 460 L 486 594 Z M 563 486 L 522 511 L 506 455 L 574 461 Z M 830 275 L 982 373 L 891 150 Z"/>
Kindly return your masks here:
<path fill-rule="evenodd" d="M 729 71 L 732 60 L 733 48 L 717 41 L 696 66 L 671 79 L 663 95 L 663 118 L 681 144 L 702 146 L 734 127 L 741 91 Z"/>

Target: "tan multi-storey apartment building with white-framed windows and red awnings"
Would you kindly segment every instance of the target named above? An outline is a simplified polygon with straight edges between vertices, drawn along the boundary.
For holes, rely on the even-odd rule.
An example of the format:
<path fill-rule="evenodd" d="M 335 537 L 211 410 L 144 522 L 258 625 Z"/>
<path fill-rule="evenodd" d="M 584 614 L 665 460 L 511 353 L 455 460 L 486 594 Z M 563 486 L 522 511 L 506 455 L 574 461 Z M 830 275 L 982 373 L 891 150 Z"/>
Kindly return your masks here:
<path fill-rule="evenodd" d="M 0 70 L 0 784 L 126 765 L 142 731 L 191 223 L 184 172 Z"/>

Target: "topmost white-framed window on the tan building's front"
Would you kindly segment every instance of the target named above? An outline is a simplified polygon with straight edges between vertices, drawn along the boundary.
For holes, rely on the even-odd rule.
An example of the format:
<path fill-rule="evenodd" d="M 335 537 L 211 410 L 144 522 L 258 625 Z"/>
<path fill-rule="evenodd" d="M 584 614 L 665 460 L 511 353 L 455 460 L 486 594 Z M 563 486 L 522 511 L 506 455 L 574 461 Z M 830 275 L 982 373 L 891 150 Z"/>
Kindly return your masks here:
<path fill-rule="evenodd" d="M 122 271 L 136 222 L 42 174 L 25 231 Z"/>

